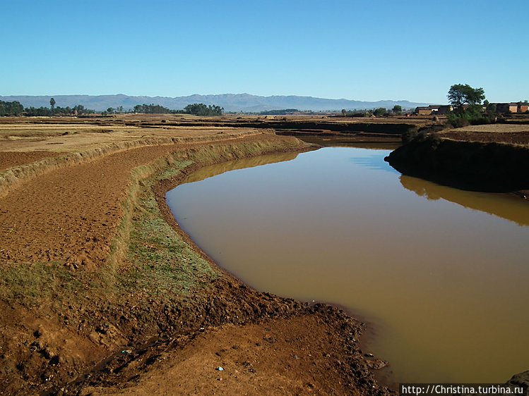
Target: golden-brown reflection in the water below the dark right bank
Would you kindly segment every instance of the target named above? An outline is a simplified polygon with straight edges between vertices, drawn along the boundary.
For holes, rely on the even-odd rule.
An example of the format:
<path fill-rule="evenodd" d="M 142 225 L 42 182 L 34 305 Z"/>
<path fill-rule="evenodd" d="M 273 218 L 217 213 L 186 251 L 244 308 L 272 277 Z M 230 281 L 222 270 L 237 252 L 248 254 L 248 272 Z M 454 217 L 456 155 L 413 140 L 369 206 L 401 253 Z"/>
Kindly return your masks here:
<path fill-rule="evenodd" d="M 505 218 L 521 226 L 529 225 L 529 202 L 508 194 L 458 190 L 405 175 L 400 175 L 400 183 L 406 190 L 430 201 L 445 199 L 465 208 Z"/>

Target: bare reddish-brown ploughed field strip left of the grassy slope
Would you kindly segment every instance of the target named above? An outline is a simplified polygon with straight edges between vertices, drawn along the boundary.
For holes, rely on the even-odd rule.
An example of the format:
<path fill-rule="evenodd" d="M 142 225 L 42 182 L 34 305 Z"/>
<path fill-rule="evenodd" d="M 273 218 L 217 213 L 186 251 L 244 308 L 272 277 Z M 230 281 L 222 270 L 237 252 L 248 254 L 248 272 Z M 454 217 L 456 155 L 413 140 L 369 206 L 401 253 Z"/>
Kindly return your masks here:
<path fill-rule="evenodd" d="M 101 264 L 123 216 L 131 170 L 175 149 L 121 151 L 26 182 L 0 199 L 0 260 Z"/>

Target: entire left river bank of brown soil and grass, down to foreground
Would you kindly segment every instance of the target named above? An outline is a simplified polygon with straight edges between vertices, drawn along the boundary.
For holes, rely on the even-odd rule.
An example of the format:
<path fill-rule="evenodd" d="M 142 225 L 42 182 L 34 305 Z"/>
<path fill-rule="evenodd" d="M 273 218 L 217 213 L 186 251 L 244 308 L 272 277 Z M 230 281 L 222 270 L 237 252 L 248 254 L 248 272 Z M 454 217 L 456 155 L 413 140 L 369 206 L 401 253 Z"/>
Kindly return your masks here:
<path fill-rule="evenodd" d="M 165 205 L 199 166 L 305 149 L 257 132 L 172 142 L 16 185 L 0 199 L 0 394 L 386 392 L 360 323 L 249 289 Z"/>

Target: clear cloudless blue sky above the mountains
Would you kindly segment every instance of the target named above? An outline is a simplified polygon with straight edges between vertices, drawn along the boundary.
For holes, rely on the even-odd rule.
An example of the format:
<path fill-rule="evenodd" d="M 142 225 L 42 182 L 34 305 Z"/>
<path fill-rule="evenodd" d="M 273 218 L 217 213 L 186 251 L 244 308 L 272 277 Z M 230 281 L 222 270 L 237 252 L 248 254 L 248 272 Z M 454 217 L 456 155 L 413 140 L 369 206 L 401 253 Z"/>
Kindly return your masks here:
<path fill-rule="evenodd" d="M 0 0 L 0 95 L 529 99 L 529 1 Z"/>

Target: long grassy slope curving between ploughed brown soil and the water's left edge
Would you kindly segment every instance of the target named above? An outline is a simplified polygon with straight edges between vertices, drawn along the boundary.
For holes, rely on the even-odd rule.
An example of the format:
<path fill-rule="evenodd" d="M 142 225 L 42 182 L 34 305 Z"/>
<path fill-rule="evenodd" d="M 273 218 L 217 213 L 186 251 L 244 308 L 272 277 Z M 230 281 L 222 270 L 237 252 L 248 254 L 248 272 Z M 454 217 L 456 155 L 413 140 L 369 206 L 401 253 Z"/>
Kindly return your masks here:
<path fill-rule="evenodd" d="M 189 169 L 210 163 L 285 149 L 302 149 L 302 144 L 296 140 L 207 144 L 134 169 L 129 198 L 124 202 L 125 216 L 107 266 L 110 275 L 107 279 L 114 278 L 116 292 L 139 288 L 157 298 L 196 297 L 196 292 L 208 288 L 221 276 L 217 268 L 211 267 L 165 222 L 153 194 L 155 183 L 182 180 Z M 128 268 L 121 265 L 125 261 L 129 263 Z"/>

